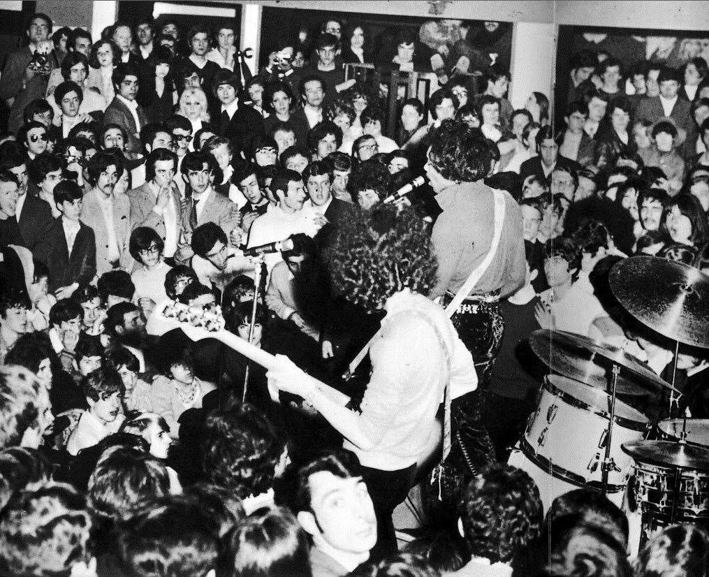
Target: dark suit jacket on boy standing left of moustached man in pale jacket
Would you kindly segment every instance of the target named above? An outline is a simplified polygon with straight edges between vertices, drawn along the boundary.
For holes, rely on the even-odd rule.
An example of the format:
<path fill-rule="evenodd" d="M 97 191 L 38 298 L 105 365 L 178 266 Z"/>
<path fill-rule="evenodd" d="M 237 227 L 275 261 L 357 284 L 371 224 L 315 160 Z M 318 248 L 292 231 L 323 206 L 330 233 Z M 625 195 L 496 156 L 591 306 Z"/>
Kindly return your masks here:
<path fill-rule="evenodd" d="M 74 282 L 86 286 L 96 276 L 96 240 L 94 230 L 79 221 L 79 232 L 74 240 L 72 254 L 67 249 L 62 217 L 57 217 L 48 231 L 48 248 L 38 255 L 49 269 L 50 291 Z"/>

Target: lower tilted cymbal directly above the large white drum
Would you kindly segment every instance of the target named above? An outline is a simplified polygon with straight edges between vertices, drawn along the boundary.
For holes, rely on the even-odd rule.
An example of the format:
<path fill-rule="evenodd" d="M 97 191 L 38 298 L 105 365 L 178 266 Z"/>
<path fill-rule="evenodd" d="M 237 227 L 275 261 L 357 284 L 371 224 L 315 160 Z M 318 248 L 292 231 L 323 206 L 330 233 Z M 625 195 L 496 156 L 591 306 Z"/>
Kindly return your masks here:
<path fill-rule="evenodd" d="M 535 330 L 530 335 L 530 347 L 552 371 L 608 393 L 613 364 L 621 367 L 615 389 L 619 395 L 640 396 L 672 388 L 623 349 L 572 332 Z"/>

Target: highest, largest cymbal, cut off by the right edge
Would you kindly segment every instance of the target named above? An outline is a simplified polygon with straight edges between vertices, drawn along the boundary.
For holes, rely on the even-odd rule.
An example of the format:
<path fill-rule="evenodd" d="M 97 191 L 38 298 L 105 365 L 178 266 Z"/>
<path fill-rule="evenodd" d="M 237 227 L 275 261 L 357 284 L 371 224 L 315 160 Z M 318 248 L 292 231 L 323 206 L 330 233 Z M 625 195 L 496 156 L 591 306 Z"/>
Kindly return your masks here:
<path fill-rule="evenodd" d="M 610 290 L 641 323 L 693 347 L 709 348 L 709 276 L 681 262 L 630 257 L 610 270 Z"/>

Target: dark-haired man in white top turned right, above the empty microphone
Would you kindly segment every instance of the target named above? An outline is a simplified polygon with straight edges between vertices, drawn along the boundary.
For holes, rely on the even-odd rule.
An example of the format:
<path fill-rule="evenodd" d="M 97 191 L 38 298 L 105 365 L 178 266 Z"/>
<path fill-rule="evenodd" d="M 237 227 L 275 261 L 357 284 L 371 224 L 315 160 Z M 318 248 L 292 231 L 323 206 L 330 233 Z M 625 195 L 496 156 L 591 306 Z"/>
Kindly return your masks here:
<path fill-rule="evenodd" d="M 298 233 L 312 237 L 325 224 L 323 215 L 303 211 L 303 203 L 308 197 L 301 175 L 294 170 L 285 169 L 275 177 L 271 181 L 271 191 L 278 199 L 277 206 L 254 220 L 249 231 L 249 248 L 286 240 Z M 281 254 L 266 254 L 264 261 L 270 274 L 271 269 L 281 261 Z"/>

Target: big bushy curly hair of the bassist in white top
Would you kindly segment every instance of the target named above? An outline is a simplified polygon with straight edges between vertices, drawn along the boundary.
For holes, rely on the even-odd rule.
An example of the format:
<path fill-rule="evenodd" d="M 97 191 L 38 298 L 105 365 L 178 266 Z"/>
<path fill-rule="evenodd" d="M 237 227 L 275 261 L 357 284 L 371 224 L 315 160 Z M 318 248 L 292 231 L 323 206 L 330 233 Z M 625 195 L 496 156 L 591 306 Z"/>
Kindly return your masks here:
<path fill-rule="evenodd" d="M 338 226 L 325 259 L 333 289 L 369 312 L 405 288 L 426 296 L 437 281 L 430 237 L 409 208 L 352 211 Z"/>

